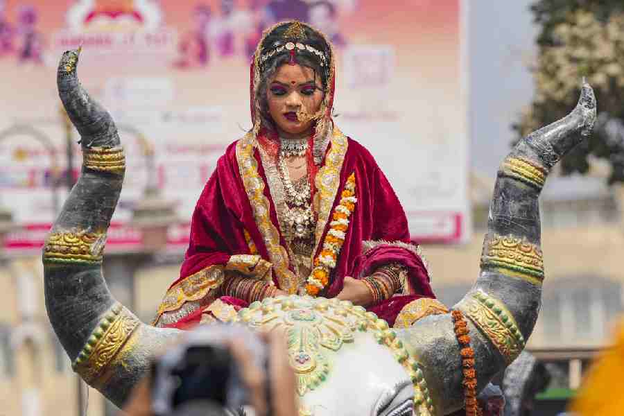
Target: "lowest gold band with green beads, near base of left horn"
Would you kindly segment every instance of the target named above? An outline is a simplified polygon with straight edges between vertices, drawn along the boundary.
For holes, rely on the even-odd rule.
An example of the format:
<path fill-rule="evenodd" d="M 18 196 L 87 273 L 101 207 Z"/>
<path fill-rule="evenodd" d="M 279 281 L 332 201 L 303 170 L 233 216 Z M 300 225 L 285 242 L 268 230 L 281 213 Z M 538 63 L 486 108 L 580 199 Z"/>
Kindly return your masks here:
<path fill-rule="evenodd" d="M 135 315 L 121 304 L 114 304 L 73 361 L 73 370 L 89 385 L 93 384 L 138 326 Z"/>

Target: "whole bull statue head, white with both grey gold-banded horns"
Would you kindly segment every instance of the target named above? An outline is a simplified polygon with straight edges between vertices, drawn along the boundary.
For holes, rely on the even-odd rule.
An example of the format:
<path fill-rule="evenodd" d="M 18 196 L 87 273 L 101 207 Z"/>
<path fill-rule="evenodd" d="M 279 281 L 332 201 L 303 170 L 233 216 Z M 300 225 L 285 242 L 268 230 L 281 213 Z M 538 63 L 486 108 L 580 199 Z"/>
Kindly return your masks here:
<path fill-rule="evenodd" d="M 78 55 L 62 55 L 58 90 L 80 133 L 83 171 L 44 246 L 46 309 L 74 370 L 121 406 L 150 357 L 180 331 L 140 322 L 105 284 L 103 249 L 125 162 L 112 118 L 78 81 Z M 467 320 L 477 390 L 520 354 L 535 325 L 544 279 L 537 199 L 551 168 L 595 119 L 584 83 L 568 116 L 528 135 L 501 164 L 480 275 L 453 306 Z M 349 302 L 293 295 L 254 303 L 234 320 L 286 329 L 297 390 L 315 416 L 445 415 L 463 406 L 461 347 L 449 313 L 392 329 Z"/>

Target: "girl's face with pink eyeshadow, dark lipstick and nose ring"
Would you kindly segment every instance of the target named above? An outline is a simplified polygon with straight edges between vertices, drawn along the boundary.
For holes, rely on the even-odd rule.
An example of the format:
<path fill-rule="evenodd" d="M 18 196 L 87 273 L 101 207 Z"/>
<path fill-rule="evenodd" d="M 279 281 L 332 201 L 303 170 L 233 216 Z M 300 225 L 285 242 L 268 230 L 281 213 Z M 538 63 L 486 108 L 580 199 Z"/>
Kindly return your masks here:
<path fill-rule="evenodd" d="M 281 135 L 309 132 L 312 120 L 297 112 L 308 116 L 318 112 L 323 100 L 318 78 L 312 69 L 299 64 L 283 64 L 275 71 L 266 96 L 269 114 Z"/>

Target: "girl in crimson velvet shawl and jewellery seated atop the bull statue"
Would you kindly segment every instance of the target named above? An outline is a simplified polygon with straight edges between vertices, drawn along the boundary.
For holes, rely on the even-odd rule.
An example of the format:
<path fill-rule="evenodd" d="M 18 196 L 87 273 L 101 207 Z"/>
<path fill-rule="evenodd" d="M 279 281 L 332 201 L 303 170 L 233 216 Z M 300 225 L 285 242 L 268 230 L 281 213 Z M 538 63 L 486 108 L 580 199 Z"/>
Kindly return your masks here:
<path fill-rule="evenodd" d="M 285 294 L 349 300 L 393 324 L 433 292 L 388 180 L 331 119 L 331 45 L 299 21 L 277 24 L 251 69 L 253 128 L 200 196 L 180 279 L 155 324 L 227 320 Z"/>

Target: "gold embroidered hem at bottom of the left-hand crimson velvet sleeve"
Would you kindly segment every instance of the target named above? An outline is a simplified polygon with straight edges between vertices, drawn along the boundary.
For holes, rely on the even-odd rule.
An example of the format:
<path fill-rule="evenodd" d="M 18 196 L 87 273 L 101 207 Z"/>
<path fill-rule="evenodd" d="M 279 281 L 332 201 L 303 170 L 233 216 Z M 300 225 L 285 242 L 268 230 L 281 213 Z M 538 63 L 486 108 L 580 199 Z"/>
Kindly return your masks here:
<path fill-rule="evenodd" d="M 223 266 L 215 264 L 177 282 L 165 294 L 154 322 L 157 322 L 163 313 L 180 309 L 185 302 L 202 299 L 209 291 L 221 286 L 223 277 Z"/>

